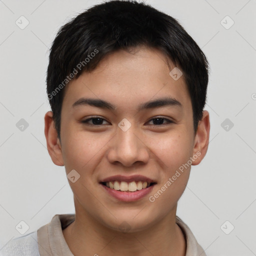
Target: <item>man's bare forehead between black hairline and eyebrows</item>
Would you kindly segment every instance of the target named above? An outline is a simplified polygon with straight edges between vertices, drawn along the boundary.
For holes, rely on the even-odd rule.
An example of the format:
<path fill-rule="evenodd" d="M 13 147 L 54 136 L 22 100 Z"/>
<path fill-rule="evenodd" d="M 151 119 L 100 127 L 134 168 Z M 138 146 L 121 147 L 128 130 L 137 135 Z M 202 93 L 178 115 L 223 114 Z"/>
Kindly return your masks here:
<path fill-rule="evenodd" d="M 114 101 L 125 109 L 128 104 L 137 107 L 138 102 L 170 96 L 187 104 L 190 97 L 183 77 L 174 80 L 169 74 L 174 67 L 157 49 L 117 50 L 107 54 L 93 71 L 71 80 L 63 101 L 72 105 L 81 97 L 93 97 Z"/>

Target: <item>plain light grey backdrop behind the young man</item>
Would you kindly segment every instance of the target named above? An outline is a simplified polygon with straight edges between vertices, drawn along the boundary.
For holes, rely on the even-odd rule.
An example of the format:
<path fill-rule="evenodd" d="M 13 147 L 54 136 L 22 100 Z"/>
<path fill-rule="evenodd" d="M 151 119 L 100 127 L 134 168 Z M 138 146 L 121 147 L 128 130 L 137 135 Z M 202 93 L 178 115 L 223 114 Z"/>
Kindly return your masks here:
<path fill-rule="evenodd" d="M 74 213 L 64 167 L 46 149 L 46 68 L 58 28 L 99 2 L 0 1 L 0 248 L 21 236 L 20 221 L 29 233 Z M 256 1 L 146 2 L 178 19 L 210 64 L 209 148 L 191 168 L 177 215 L 207 255 L 256 255 Z"/>

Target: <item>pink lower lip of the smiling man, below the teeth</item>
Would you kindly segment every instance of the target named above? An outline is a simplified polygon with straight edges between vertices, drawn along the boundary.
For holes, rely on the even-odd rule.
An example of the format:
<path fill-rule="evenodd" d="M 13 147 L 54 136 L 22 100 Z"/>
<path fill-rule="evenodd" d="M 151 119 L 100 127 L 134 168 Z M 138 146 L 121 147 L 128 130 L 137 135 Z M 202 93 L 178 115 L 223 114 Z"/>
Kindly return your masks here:
<path fill-rule="evenodd" d="M 112 188 L 109 188 L 103 184 L 100 184 L 101 186 L 104 187 L 104 189 L 113 197 L 120 201 L 126 201 L 126 202 L 131 202 L 131 201 L 137 201 L 147 195 L 148 193 L 151 192 L 153 189 L 154 185 L 151 185 L 146 188 L 142 188 L 140 190 L 136 190 L 134 192 L 126 192 L 126 191 L 120 191 L 120 190 L 115 190 Z"/>

